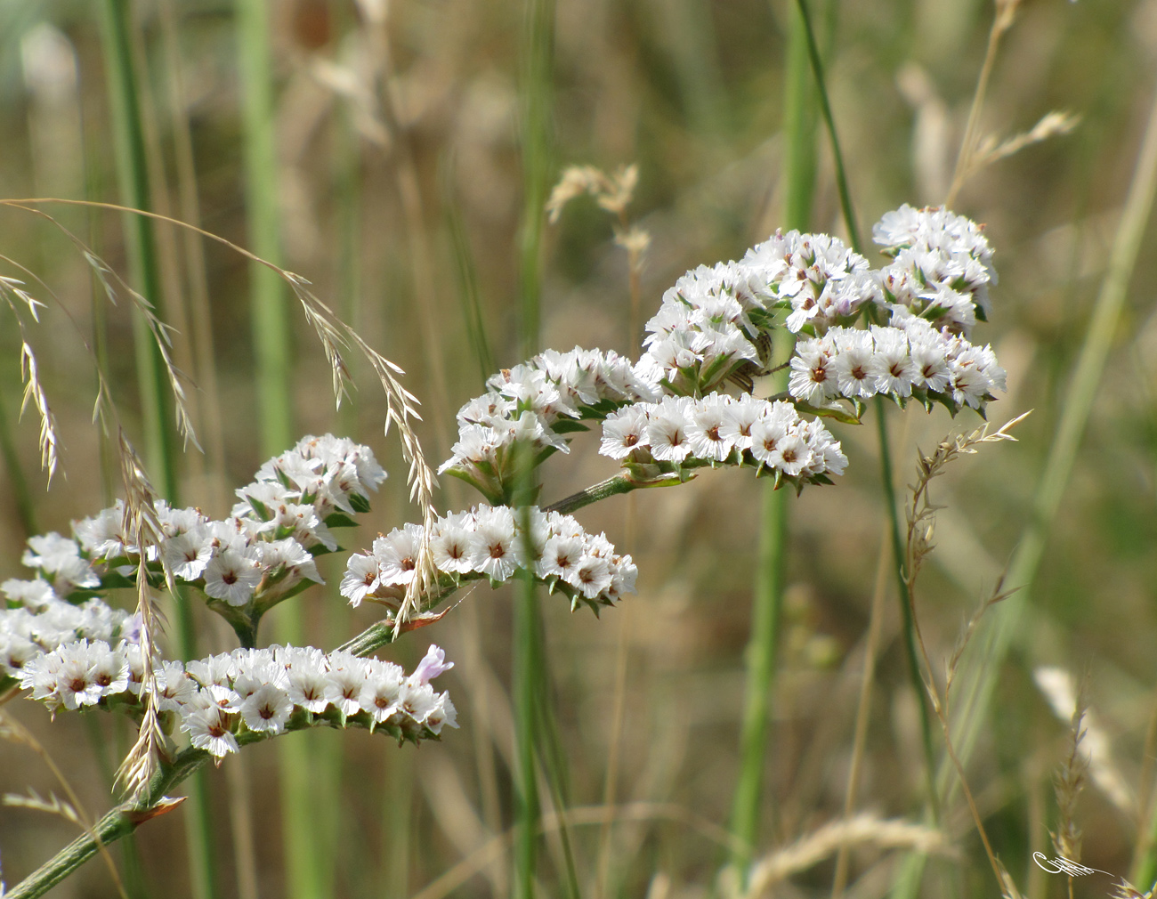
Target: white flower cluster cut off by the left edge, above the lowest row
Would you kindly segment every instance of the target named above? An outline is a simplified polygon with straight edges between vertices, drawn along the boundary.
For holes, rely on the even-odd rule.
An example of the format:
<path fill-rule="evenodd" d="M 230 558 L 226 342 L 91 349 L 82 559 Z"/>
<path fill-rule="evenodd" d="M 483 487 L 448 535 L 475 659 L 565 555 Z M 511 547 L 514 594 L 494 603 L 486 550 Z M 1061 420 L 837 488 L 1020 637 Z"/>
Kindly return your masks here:
<path fill-rule="evenodd" d="M 0 681 L 19 677 L 30 658 L 61 643 L 82 639 L 113 642 L 120 636 L 132 636 L 130 632 L 135 631 L 135 619 L 128 612 L 110 609 L 95 598 L 73 605 L 40 579 L 5 581 L 0 591 L 13 606 L 0 609 Z"/>

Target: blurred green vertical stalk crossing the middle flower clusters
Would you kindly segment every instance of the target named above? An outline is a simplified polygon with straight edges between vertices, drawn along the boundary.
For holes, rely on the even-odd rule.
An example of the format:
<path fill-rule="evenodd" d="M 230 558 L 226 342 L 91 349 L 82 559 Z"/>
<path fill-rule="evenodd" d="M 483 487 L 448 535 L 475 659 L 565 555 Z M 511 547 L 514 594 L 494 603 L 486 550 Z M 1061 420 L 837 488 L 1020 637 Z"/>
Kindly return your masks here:
<path fill-rule="evenodd" d="M 526 0 L 521 56 L 523 212 L 518 234 L 521 356 L 538 351 L 541 322 L 543 226 L 551 165 L 554 0 Z M 526 479 L 532 473 L 528 470 Z M 525 486 L 530 486 L 524 485 Z M 524 495 L 530 491 L 523 489 Z M 533 577 L 518 581 L 514 607 L 513 693 L 515 700 L 515 809 L 518 837 L 514 853 L 514 896 L 535 896 L 538 859 L 536 747 L 541 735 L 539 684 L 544 681 L 541 624 Z"/>

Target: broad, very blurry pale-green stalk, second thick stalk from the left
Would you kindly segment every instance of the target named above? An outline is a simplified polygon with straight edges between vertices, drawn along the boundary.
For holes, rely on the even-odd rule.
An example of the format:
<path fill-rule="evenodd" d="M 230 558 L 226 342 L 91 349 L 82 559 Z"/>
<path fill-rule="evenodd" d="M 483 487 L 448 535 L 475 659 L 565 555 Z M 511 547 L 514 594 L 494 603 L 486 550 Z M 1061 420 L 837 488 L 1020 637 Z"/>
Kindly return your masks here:
<path fill-rule="evenodd" d="M 264 0 L 237 0 L 235 10 L 249 242 L 257 256 L 279 263 L 282 253 L 268 5 Z M 260 444 L 263 455 L 272 456 L 293 443 L 289 315 L 280 279 L 265 266 L 250 266 L 249 274 Z M 301 604 L 287 604 L 281 610 L 277 635 L 283 643 L 304 642 Z M 314 833 L 310 750 L 311 740 L 304 737 L 285 740 L 278 747 L 286 880 L 288 896 L 294 899 L 329 894 Z"/>

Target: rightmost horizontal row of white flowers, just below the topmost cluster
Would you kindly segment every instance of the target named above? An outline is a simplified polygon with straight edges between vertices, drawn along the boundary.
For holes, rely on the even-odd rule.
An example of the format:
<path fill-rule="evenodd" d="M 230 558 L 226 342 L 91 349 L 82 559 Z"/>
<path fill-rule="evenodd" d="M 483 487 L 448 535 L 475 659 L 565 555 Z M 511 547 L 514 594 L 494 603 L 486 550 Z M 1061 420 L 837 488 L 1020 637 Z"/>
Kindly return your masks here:
<path fill-rule="evenodd" d="M 981 410 L 994 389 L 1004 389 L 1004 375 L 992 347 L 973 346 L 946 327 L 936 330 L 897 305 L 891 326 L 833 327 L 799 341 L 788 390 L 815 406 L 884 393 L 900 400 L 922 395 L 953 410 Z"/>

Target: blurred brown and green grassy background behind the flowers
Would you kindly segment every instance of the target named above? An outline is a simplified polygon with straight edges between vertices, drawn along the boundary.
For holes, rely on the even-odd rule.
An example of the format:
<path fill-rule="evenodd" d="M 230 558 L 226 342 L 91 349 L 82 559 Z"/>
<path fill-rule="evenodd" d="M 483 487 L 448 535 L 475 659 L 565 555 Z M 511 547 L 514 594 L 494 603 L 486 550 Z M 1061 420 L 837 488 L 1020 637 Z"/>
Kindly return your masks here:
<path fill-rule="evenodd" d="M 813 7 L 861 230 L 902 202 L 942 202 L 993 5 L 832 0 Z M 525 355 L 519 297 L 528 293 L 528 258 L 540 272 L 540 289 L 531 290 L 540 318 L 532 344 L 638 355 L 641 330 L 632 333 L 616 222 L 590 199 L 577 199 L 558 224 L 546 224 L 535 212 L 545 200 L 535 177 L 541 190 L 567 165 L 613 171 L 638 164 L 628 216 L 651 243 L 636 329 L 685 270 L 739 258 L 783 223 L 794 3 L 558 0 L 553 21 L 543 8 L 541 0 L 0 0 L 0 197 L 147 207 L 301 273 L 406 370 L 404 383 L 422 403 L 419 433 L 436 465 L 456 439 L 454 412 L 482 392 L 488 367 Z M 536 15 L 546 16 L 552 40 L 528 27 Z M 1107 277 L 1155 75 L 1157 0 L 1026 0 L 995 58 L 982 134 L 1011 137 L 1054 110 L 1079 124 L 985 168 L 955 202 L 956 212 L 987 224 L 1000 272 L 992 320 L 974 337 L 992 341 L 1009 371 L 1008 392 L 989 406 L 989 419 L 1034 413 L 1017 429 L 1020 442 L 985 448 L 934 485 L 933 498 L 945 509 L 919 613 L 936 665 L 1032 523 L 1033 496 Z M 539 150 L 530 154 L 539 176 L 528 175 L 522 152 L 535 116 L 546 123 Z M 815 146 L 809 228 L 845 235 L 823 132 Z M 165 480 L 182 504 L 224 515 L 231 491 L 265 458 L 302 434 L 332 432 L 369 443 L 391 474 L 366 525 L 345 536 L 347 548 L 415 519 L 398 444 L 382 434 L 385 403 L 373 373 L 351 355 L 358 390 L 336 411 L 325 358 L 292 294 L 263 282 L 236 252 L 182 230 L 142 229 L 108 209 L 43 209 L 177 331 L 174 356 L 196 385 L 189 392 L 205 448 L 178 456 Z M 2 208 L 0 235 L 0 274 L 28 281 L 47 307 L 29 339 L 62 437 L 61 471 L 45 491 L 36 415 L 17 421 L 20 334 L 6 314 L 2 580 L 27 576 L 20 555 L 29 533 L 67 533 L 72 519 L 117 495 L 115 444 L 90 421 L 97 362 L 130 437 L 149 452 L 156 447 L 141 386 L 148 354 L 134 348 L 139 326 L 127 296 L 109 303 L 82 255 L 43 218 Z M 537 242 L 530 253 L 528 240 Z M 989 666 L 997 686 L 970 782 L 997 853 L 1031 896 L 1057 896 L 1066 886 L 1031 862 L 1033 850 L 1053 855 L 1053 776 L 1069 730 L 1037 686 L 1038 665 L 1076 678 L 1089 673 L 1088 700 L 1105 738 L 1104 776 L 1117 784 L 1114 794 L 1095 779 L 1081 796 L 1082 861 L 1128 876 L 1138 834 L 1149 830 L 1157 710 L 1152 249 L 1151 235 L 1144 237 L 1107 361 L 1096 373 L 1099 386 L 1071 477 L 1046 522 L 1019 635 L 1009 653 L 978 665 Z M 271 333 L 288 348 L 280 369 L 270 368 L 263 349 Z M 272 386 L 263 381 L 271 371 Z M 268 422 L 274 403 L 288 403 L 280 426 Z M 957 421 L 942 408 L 889 413 L 901 491 L 914 479 L 918 448 L 930 451 L 953 429 L 980 423 L 967 411 Z M 788 502 L 757 856 L 843 810 L 886 544 L 875 427 L 832 430 L 843 441 L 848 473 L 834 487 L 809 488 Z M 277 443 L 279 433 L 287 439 Z M 581 435 L 570 455 L 546 464 L 544 502 L 613 472 L 596 447 L 597 434 Z M 149 457 L 154 466 L 156 458 Z M 156 467 L 154 480 L 163 480 Z M 587 529 L 605 530 L 634 555 L 639 595 L 600 619 L 541 597 L 565 759 L 560 781 L 576 810 L 570 839 L 584 896 L 706 896 L 727 859 L 760 495 L 750 472 L 718 471 L 677 489 L 589 507 L 578 515 Z M 436 500 L 445 511 L 478 498 L 444 478 Z M 341 560 L 326 561 L 330 585 L 303 595 L 300 620 L 285 627 L 333 648 L 375 617 L 345 605 L 336 589 Z M 892 580 L 885 583 L 894 594 Z M 926 775 L 918 699 L 894 595 L 884 610 L 855 806 L 919 823 Z M 231 635 L 198 612 L 200 653 L 231 648 Z M 281 810 L 290 799 L 278 775 L 278 744 L 263 744 L 206 771 L 214 889 L 206 892 L 183 861 L 189 816 L 182 810 L 142 827 L 127 854 L 115 848 L 130 894 L 508 894 L 509 846 L 501 838 L 513 820 L 510 619 L 510 596 L 478 589 L 436 627 L 382 653 L 410 666 L 435 641 L 456 662 L 441 687 L 451 691 L 462 727 L 440 744 L 398 749 L 364 732 L 281 740 L 308 745 L 312 759 L 303 789 L 312 796 L 309 848 L 318 867 L 308 884 L 293 874 L 294 853 L 286 849 Z M 280 626 L 265 639 L 286 633 Z M 179 655 L 176 647 L 169 651 Z M 110 772 L 131 745 L 124 722 L 62 714 L 50 723 L 43 707 L 19 698 L 3 710 L 40 740 L 90 813 L 112 803 Z M 0 744 L 0 793 L 59 791 L 27 746 Z M 624 810 L 604 830 L 594 806 L 607 798 Z M 995 894 L 958 794 L 945 803 L 942 827 L 956 854 L 929 862 L 921 894 Z M 543 894 L 561 894 L 561 841 L 557 828 L 547 831 Z M 75 833 L 59 818 L 0 806 L 3 878 L 19 882 Z M 870 846 L 853 853 L 848 894 L 886 894 L 902 857 Z M 827 896 L 833 870 L 828 853 L 776 890 Z M 1085 878 L 1076 891 L 1104 896 L 1108 883 Z M 100 861 L 52 893 L 116 894 Z"/>

